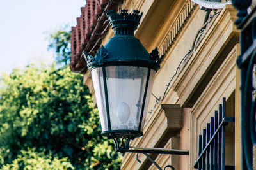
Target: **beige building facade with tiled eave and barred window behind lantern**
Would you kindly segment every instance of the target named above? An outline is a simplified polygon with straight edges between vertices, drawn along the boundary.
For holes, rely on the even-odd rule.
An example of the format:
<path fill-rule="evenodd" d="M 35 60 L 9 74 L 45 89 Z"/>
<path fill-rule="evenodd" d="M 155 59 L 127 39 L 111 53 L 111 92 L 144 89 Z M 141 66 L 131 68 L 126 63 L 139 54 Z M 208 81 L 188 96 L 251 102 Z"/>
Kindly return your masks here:
<path fill-rule="evenodd" d="M 165 55 L 154 81 L 144 135 L 131 146 L 189 150 L 189 155 L 150 155 L 162 168 L 170 164 L 175 169 L 200 169 L 216 164 L 212 157 L 218 157 L 226 169 L 241 169 L 236 9 L 227 4 L 207 10 L 191 0 L 88 0 L 72 27 L 70 68 L 84 74 L 92 95 L 92 76 L 82 52 L 95 55 L 113 36 L 104 11 L 119 8 L 144 13 L 135 36 L 148 52 L 157 46 Z M 125 153 L 122 169 L 156 169 L 145 155 L 138 159 L 141 162 L 135 153 Z"/>

